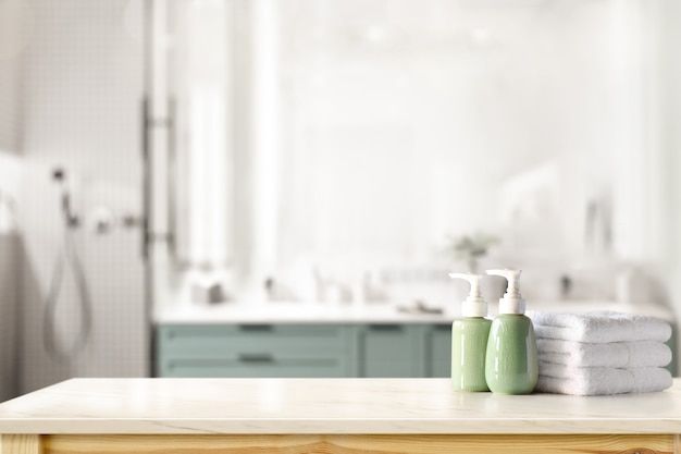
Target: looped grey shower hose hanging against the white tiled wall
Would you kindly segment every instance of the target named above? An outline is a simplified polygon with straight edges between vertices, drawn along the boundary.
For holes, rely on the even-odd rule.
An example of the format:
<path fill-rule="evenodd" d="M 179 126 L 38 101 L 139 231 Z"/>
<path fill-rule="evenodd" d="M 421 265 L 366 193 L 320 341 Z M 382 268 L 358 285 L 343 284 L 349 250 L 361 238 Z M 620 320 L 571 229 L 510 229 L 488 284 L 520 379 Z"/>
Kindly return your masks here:
<path fill-rule="evenodd" d="M 52 268 L 50 287 L 45 302 L 42 342 L 45 349 L 52 358 L 72 360 L 87 346 L 90 338 L 92 330 L 92 303 L 83 263 L 78 257 L 74 241 L 74 230 L 77 228 L 77 221 L 70 212 L 69 195 L 66 193 L 62 197 L 62 210 L 65 219 L 64 237 L 61 250 L 57 255 L 54 267 Z M 74 278 L 81 323 L 73 342 L 64 345 L 57 335 L 57 316 L 67 268 L 71 269 Z"/>

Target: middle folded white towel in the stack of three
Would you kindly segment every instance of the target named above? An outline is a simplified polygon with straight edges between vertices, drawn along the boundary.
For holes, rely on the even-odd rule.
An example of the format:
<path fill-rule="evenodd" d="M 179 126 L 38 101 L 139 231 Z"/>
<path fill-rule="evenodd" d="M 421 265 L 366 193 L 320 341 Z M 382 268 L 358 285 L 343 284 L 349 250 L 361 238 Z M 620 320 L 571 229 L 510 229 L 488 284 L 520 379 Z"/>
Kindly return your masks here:
<path fill-rule="evenodd" d="M 661 342 L 585 342 L 537 339 L 540 360 L 572 367 L 665 367 L 671 348 Z"/>

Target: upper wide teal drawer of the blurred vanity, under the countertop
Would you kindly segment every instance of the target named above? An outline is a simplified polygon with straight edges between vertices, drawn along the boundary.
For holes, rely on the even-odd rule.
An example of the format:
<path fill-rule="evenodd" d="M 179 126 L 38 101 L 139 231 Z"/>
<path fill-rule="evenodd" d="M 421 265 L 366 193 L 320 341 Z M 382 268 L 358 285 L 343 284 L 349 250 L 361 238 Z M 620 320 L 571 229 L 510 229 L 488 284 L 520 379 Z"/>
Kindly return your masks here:
<path fill-rule="evenodd" d="M 228 358 L 267 352 L 339 352 L 346 335 L 339 326 L 164 326 L 158 331 L 161 358 Z"/>

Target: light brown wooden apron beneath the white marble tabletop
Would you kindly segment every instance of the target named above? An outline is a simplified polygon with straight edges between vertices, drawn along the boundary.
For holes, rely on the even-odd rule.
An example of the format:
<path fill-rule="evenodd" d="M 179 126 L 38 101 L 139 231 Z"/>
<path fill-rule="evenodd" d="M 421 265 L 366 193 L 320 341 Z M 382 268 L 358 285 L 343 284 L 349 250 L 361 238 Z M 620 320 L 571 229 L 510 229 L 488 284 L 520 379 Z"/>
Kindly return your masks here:
<path fill-rule="evenodd" d="M 674 435 L 593 434 L 47 435 L 42 443 L 44 454 L 672 454 L 674 444 Z"/>

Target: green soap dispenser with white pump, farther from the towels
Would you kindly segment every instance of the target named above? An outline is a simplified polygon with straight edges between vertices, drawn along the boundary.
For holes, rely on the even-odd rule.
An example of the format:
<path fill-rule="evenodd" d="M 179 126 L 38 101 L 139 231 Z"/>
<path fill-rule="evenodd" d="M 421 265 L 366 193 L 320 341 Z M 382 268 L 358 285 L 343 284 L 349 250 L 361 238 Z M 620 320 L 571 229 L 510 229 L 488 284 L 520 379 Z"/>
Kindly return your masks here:
<path fill-rule="evenodd" d="M 461 304 L 462 318 L 451 323 L 451 383 L 457 391 L 490 391 L 485 381 L 485 351 L 492 321 L 486 319 L 487 303 L 480 294 L 479 274 L 451 273 L 471 284 Z"/>

